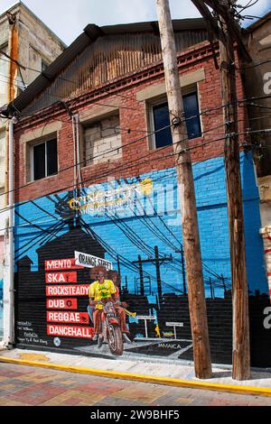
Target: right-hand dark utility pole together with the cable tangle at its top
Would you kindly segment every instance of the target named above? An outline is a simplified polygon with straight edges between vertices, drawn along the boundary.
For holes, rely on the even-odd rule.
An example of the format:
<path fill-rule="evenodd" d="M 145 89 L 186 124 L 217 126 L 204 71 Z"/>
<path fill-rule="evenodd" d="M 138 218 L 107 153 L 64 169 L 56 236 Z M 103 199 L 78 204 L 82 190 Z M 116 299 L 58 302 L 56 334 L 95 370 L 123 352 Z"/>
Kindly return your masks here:
<path fill-rule="evenodd" d="M 251 61 L 240 28 L 235 21 L 232 0 L 192 0 L 209 31 L 220 41 L 222 104 L 225 121 L 225 170 L 227 180 L 229 244 L 233 309 L 232 378 L 250 376 L 248 282 L 244 235 L 243 201 L 238 143 L 238 105 L 234 42 L 243 60 Z M 210 8 L 214 13 L 211 13 Z"/>

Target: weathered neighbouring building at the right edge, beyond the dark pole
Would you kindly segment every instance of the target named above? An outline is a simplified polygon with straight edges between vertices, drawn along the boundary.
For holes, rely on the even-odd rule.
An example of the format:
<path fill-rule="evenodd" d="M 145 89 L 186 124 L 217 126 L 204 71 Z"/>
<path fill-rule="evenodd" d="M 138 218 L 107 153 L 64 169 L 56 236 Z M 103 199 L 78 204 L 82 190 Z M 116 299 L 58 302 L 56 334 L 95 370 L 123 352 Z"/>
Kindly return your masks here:
<path fill-rule="evenodd" d="M 250 126 L 253 130 L 271 128 L 271 13 L 248 27 L 248 51 L 252 63 L 245 69 L 246 93 L 248 97 L 257 97 L 248 106 Z M 260 145 L 256 149 L 257 184 L 260 192 L 261 235 L 265 244 L 266 271 L 268 286 L 271 290 L 271 132 L 263 132 L 253 137 Z"/>

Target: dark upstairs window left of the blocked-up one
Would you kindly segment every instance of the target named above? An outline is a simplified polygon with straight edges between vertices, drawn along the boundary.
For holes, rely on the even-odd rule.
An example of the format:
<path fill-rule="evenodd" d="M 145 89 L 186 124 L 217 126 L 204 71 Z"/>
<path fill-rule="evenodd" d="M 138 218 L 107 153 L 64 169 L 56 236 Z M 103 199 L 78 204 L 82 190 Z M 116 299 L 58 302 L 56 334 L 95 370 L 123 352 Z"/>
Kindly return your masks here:
<path fill-rule="evenodd" d="M 32 146 L 32 180 L 41 180 L 58 172 L 57 139 Z"/>

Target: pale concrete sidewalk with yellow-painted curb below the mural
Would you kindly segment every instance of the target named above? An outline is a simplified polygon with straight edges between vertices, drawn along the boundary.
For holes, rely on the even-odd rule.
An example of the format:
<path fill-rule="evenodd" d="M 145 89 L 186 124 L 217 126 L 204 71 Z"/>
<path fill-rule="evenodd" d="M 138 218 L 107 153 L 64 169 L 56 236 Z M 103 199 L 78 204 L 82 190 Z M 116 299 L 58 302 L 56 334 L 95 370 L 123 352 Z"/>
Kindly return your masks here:
<path fill-rule="evenodd" d="M 192 363 L 184 361 L 105 359 L 85 355 L 67 355 L 26 349 L 2 350 L 0 363 L 25 364 L 73 373 L 89 373 L 123 380 L 160 383 L 173 386 L 271 396 L 271 372 L 252 370 L 251 379 L 237 382 L 231 379 L 231 368 L 213 366 L 213 377 L 199 380 Z"/>

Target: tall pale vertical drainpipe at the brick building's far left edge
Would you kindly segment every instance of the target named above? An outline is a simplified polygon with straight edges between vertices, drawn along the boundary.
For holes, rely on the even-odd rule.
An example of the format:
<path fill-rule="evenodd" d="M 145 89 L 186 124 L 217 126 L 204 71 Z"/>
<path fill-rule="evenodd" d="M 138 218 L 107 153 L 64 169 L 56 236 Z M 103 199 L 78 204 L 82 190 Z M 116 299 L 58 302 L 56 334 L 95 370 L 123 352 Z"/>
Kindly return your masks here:
<path fill-rule="evenodd" d="M 14 346 L 14 121 L 9 118 L 8 131 L 8 241 L 9 241 L 9 334 L 8 347 Z"/>

